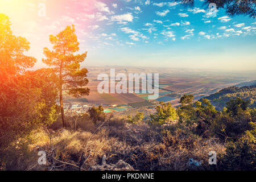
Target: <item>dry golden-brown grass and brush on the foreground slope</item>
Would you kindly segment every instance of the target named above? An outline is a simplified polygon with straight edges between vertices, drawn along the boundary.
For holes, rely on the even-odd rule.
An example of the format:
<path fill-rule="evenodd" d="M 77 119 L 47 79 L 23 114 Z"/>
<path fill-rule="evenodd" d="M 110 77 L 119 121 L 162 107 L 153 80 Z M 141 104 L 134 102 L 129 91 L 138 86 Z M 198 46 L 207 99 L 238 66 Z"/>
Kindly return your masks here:
<path fill-rule="evenodd" d="M 84 152 L 84 169 L 100 164 L 101 156 L 105 154 L 107 163 L 122 159 L 139 170 L 187 170 L 189 158 L 201 161 L 200 169 L 210 169 L 209 151 L 216 151 L 217 156 L 225 151 L 217 139 L 202 139 L 179 129 L 166 132 L 162 127 L 146 123 L 130 125 L 123 118 L 108 118 L 105 123 L 81 118 L 77 121 L 78 131 L 57 129 L 57 126 L 59 123 L 51 126 L 54 130 L 49 133 L 43 129 L 34 131 L 18 144 L 27 147 L 11 146 L 9 151 L 13 151 L 11 155 L 15 156 L 13 161 L 16 163 L 9 161 L 9 165 L 2 169 L 49 170 L 49 165 L 37 165 L 37 154 L 42 148 L 55 150 L 56 159 L 76 165 Z M 76 168 L 61 165 L 56 169 Z"/>

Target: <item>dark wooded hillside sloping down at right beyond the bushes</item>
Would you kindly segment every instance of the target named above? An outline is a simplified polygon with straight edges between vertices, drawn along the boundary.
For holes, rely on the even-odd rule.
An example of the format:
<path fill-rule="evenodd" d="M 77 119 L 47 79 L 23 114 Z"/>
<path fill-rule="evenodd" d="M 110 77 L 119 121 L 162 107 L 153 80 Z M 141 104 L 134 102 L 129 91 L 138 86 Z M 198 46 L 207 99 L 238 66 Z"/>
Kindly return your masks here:
<path fill-rule="evenodd" d="M 220 92 L 216 92 L 204 98 L 210 100 L 210 102 L 216 107 L 216 109 L 222 110 L 223 107 L 226 106 L 226 102 L 230 101 L 230 99 L 234 99 L 237 97 L 241 97 L 242 100 L 249 100 L 250 107 L 256 107 L 256 85 L 242 87 L 232 86 L 222 89 L 220 90 Z"/>

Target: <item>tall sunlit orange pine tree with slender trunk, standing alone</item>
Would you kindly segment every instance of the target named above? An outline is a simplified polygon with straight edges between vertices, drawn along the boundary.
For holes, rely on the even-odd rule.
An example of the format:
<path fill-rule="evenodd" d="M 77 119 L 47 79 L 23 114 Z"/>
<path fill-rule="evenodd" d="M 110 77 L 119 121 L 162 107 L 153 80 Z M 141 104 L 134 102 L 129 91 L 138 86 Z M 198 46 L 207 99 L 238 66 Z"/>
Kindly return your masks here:
<path fill-rule="evenodd" d="M 88 84 L 88 70 L 80 69 L 80 63 L 85 60 L 87 52 L 75 54 L 79 51 L 79 42 L 73 25 L 67 26 L 56 36 L 50 35 L 49 40 L 53 44 L 53 50 L 44 48 L 44 55 L 47 58 L 43 59 L 43 63 L 49 65 L 59 78 L 60 110 L 65 127 L 63 94 L 73 97 L 89 95 L 89 88 L 85 87 Z"/>

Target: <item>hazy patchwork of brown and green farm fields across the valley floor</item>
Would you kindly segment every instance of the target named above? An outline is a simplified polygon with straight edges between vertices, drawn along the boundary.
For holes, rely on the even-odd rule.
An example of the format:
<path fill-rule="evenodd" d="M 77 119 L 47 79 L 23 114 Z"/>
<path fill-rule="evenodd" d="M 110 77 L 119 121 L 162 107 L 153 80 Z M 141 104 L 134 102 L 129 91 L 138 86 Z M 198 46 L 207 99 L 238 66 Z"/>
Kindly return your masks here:
<path fill-rule="evenodd" d="M 228 86 L 239 84 L 247 81 L 246 77 L 239 77 L 236 74 L 221 75 L 221 73 L 203 72 L 199 70 L 185 69 L 167 69 L 167 68 L 116 68 L 117 73 L 159 73 L 159 98 L 157 102 L 152 104 L 152 100 L 148 100 L 149 93 L 142 93 L 142 86 L 139 84 L 140 93 L 103 93 L 97 92 L 97 86 L 101 81 L 97 80 L 99 73 L 110 75 L 110 68 L 89 68 L 88 88 L 90 89 L 89 96 L 82 98 L 68 98 L 68 102 L 88 103 L 101 105 L 130 105 L 132 107 L 144 107 L 156 105 L 158 101 L 171 102 L 171 104 L 179 105 L 179 99 L 184 94 L 193 94 L 196 100 L 200 100 L 205 96 L 218 92 Z M 110 82 L 110 81 L 109 81 Z M 115 81 L 117 84 L 119 81 Z M 135 85 L 134 85 L 135 86 Z M 110 88 L 110 83 L 109 83 Z M 127 86 L 127 90 L 128 90 Z M 112 110 L 112 109 L 110 109 Z M 115 109 L 121 111 L 120 109 Z M 112 110 L 112 111 L 115 111 Z"/>

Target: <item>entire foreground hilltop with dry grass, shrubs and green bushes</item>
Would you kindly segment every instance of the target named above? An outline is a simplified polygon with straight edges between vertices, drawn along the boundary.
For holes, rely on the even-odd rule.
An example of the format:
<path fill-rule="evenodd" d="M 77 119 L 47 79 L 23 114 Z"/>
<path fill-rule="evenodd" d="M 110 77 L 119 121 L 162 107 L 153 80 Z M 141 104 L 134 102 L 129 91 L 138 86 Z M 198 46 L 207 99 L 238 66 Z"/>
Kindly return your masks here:
<path fill-rule="evenodd" d="M 120 163 L 136 170 L 255 169 L 256 112 L 240 98 L 220 112 L 208 100 L 184 96 L 177 109 L 161 103 L 146 121 L 143 113 L 113 117 L 100 109 L 70 116 L 65 129 L 58 119 L 14 140 L 1 150 L 1 169 L 100 170 L 108 164 L 118 170 L 112 164 Z M 39 151 L 47 153 L 46 165 L 38 164 Z M 213 154 L 217 163 L 210 165 Z"/>

